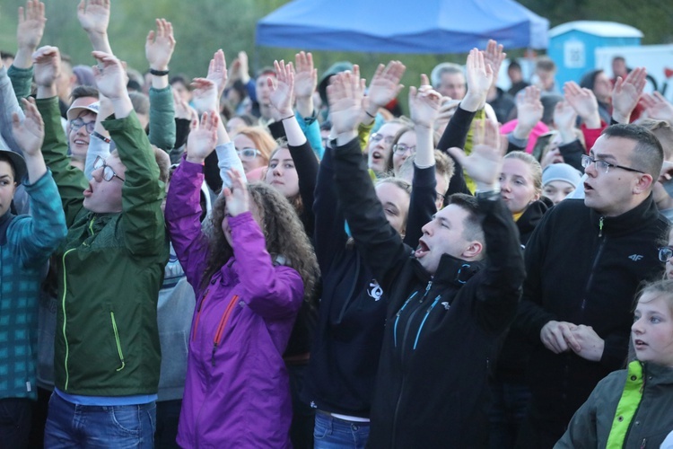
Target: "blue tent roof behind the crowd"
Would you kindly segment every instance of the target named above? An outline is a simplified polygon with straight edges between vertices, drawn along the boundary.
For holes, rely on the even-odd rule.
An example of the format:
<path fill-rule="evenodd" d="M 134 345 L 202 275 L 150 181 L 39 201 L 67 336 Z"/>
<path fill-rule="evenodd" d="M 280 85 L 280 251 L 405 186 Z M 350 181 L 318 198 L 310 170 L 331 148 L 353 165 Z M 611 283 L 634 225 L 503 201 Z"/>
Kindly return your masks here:
<path fill-rule="evenodd" d="M 513 0 L 294 0 L 257 24 L 267 47 L 465 53 L 489 39 L 546 48 L 549 22 Z"/>

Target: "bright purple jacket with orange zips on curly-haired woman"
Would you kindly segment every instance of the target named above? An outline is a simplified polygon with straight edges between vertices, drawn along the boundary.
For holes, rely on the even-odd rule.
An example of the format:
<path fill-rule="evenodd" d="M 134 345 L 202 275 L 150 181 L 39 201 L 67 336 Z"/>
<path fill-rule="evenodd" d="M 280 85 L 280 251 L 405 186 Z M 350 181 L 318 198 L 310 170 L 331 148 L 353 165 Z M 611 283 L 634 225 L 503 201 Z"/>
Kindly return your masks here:
<path fill-rule="evenodd" d="M 274 266 L 248 212 L 229 218 L 234 257 L 201 286 L 203 167 L 183 160 L 170 181 L 166 222 L 197 292 L 178 443 L 183 447 L 292 447 L 283 352 L 302 304 L 299 273 Z"/>

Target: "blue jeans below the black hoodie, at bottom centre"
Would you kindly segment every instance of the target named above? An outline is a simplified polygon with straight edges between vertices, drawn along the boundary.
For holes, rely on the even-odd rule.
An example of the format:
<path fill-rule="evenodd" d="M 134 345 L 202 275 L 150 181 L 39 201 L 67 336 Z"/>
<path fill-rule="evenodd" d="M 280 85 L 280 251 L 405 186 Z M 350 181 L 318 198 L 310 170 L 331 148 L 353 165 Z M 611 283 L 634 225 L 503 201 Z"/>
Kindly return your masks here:
<path fill-rule="evenodd" d="M 316 426 L 313 427 L 313 447 L 315 449 L 341 449 L 352 447 L 364 449 L 369 439 L 369 423 L 345 421 L 334 418 L 324 411 L 316 412 Z"/>

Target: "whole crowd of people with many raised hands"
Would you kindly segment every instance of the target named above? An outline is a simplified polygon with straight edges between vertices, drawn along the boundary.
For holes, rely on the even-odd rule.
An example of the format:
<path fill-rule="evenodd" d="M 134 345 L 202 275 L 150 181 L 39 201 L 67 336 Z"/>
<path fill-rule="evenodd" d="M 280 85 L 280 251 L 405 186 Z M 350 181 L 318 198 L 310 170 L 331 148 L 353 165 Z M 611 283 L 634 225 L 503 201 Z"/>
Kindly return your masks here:
<path fill-rule="evenodd" d="M 673 104 L 490 40 L 408 90 L 310 53 L 141 74 L 19 8 L 0 447 L 673 448 Z M 5 61 L 6 59 L 6 61 Z M 172 75 L 172 76 L 171 76 Z"/>

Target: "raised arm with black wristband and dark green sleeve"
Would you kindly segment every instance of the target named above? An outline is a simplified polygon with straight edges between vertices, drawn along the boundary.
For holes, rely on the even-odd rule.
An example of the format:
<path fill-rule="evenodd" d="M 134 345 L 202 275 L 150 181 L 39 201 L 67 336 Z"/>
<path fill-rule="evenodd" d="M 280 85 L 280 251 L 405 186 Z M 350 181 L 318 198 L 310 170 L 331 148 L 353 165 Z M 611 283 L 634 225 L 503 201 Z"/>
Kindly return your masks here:
<path fill-rule="evenodd" d="M 150 65 L 150 143 L 170 151 L 175 146 L 175 107 L 169 85 L 170 57 L 175 49 L 173 26 L 156 20 L 156 31 L 147 34 L 144 54 Z"/>

